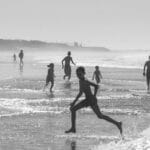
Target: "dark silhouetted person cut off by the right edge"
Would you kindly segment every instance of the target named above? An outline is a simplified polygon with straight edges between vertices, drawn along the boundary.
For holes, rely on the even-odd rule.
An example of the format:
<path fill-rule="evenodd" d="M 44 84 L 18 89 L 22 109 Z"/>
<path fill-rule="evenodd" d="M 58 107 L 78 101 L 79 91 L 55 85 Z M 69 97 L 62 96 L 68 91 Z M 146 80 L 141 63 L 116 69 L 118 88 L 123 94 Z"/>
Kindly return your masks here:
<path fill-rule="evenodd" d="M 146 75 L 147 90 L 149 91 L 150 90 L 150 56 L 149 56 L 149 60 L 146 61 L 144 65 L 143 76 L 145 75 Z"/>

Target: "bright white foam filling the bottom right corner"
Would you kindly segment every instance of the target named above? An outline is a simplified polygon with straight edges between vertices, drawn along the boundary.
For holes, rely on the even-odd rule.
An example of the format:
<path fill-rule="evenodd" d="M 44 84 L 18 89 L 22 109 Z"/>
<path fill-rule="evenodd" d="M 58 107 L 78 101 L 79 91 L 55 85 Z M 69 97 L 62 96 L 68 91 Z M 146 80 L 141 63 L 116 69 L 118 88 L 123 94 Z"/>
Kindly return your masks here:
<path fill-rule="evenodd" d="M 144 130 L 137 138 L 100 143 L 91 150 L 150 150 L 150 128 Z"/>

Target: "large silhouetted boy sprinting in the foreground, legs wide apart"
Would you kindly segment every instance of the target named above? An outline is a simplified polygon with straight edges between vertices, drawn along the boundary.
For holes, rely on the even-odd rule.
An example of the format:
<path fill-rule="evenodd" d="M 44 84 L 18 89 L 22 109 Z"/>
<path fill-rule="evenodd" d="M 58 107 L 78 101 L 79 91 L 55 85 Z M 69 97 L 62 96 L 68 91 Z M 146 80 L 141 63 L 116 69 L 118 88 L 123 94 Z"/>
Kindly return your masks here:
<path fill-rule="evenodd" d="M 114 119 L 102 114 L 98 107 L 97 98 L 96 98 L 98 85 L 85 79 L 84 67 L 78 67 L 76 70 L 76 74 L 77 77 L 79 78 L 80 90 L 75 100 L 70 104 L 72 126 L 69 130 L 65 131 L 65 133 L 70 133 L 70 132 L 76 133 L 76 111 L 81 108 L 90 106 L 99 119 L 104 119 L 108 122 L 113 123 L 114 125 L 116 125 L 116 127 L 119 129 L 120 133 L 122 134 L 122 122 L 115 121 Z M 90 86 L 94 87 L 94 94 L 92 94 Z M 85 94 L 85 99 L 79 102 L 78 104 L 75 104 L 83 93 Z"/>

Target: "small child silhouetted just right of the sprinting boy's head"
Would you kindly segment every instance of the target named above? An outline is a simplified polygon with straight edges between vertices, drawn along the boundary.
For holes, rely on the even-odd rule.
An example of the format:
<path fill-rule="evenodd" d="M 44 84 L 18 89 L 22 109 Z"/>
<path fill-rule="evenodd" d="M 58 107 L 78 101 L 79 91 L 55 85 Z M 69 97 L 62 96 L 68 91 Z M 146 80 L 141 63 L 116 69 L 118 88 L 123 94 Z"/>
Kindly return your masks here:
<path fill-rule="evenodd" d="M 102 78 L 103 77 L 102 77 L 101 71 L 99 70 L 99 66 L 95 66 L 95 71 L 93 73 L 92 80 L 95 79 L 96 83 L 99 84 Z"/>

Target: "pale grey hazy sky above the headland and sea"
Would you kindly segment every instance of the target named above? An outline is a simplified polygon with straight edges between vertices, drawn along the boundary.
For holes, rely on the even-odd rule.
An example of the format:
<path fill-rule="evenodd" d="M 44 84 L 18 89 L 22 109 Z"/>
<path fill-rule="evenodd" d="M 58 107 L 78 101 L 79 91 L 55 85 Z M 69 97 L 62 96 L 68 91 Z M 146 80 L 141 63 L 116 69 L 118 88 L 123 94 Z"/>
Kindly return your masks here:
<path fill-rule="evenodd" d="M 0 38 L 150 49 L 150 0 L 0 0 Z"/>

